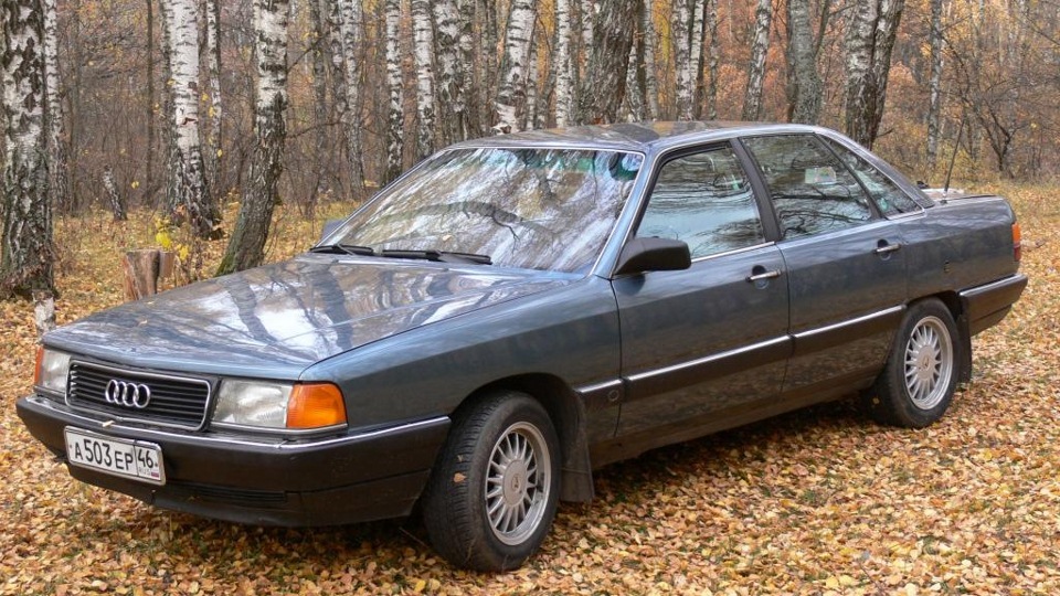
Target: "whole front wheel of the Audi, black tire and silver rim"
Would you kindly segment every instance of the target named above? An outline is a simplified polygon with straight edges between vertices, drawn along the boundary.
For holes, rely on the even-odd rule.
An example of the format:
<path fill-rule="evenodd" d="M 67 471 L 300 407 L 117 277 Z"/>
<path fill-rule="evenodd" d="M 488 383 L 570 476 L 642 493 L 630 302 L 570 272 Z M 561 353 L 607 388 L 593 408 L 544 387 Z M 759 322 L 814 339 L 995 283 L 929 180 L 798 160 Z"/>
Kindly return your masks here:
<path fill-rule="evenodd" d="M 495 394 L 454 415 L 427 485 L 424 524 L 435 550 L 475 571 L 519 567 L 555 518 L 560 449 L 541 404 Z"/>

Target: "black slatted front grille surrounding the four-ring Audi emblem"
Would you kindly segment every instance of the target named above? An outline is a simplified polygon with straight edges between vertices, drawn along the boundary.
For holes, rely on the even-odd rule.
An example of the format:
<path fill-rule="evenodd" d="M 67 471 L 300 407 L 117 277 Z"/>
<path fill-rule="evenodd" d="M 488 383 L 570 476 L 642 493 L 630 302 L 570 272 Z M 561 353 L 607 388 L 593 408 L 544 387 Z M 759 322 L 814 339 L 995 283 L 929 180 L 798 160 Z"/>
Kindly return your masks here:
<path fill-rule="evenodd" d="M 110 381 L 147 385 L 151 390 L 150 403 L 142 409 L 107 403 L 104 392 Z M 210 383 L 203 379 L 128 371 L 88 362 L 72 362 L 66 401 L 71 407 L 103 412 L 123 421 L 200 428 L 206 418 Z"/>

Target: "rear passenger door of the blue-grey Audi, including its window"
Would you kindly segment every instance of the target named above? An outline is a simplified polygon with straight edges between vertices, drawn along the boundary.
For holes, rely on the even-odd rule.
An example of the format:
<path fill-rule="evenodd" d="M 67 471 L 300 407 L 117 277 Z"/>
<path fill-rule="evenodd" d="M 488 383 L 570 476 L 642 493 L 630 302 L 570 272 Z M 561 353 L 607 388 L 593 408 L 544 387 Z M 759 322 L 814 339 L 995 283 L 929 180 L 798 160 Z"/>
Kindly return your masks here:
<path fill-rule="evenodd" d="M 768 189 L 787 270 L 794 353 L 784 392 L 827 397 L 871 383 L 905 302 L 900 228 L 815 135 L 742 141 Z"/>

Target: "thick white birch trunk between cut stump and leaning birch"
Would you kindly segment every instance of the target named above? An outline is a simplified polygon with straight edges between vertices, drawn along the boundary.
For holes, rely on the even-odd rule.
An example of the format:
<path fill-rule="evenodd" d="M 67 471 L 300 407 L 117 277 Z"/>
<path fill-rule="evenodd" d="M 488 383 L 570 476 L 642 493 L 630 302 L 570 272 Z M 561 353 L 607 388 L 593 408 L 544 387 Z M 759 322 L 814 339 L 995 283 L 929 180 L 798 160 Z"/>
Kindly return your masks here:
<path fill-rule="evenodd" d="M 162 0 L 170 86 L 170 149 L 167 203 L 174 223 L 189 221 L 197 236 L 213 233 L 199 138 L 198 0 Z"/>

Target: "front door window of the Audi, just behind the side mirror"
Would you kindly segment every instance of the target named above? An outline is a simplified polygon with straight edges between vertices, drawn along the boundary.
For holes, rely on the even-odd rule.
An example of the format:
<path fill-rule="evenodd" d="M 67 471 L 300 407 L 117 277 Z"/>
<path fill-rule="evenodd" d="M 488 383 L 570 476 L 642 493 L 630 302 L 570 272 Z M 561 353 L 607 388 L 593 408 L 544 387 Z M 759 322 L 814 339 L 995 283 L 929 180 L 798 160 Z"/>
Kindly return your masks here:
<path fill-rule="evenodd" d="M 683 241 L 692 258 L 765 242 L 754 193 L 729 146 L 667 161 L 637 236 Z"/>

